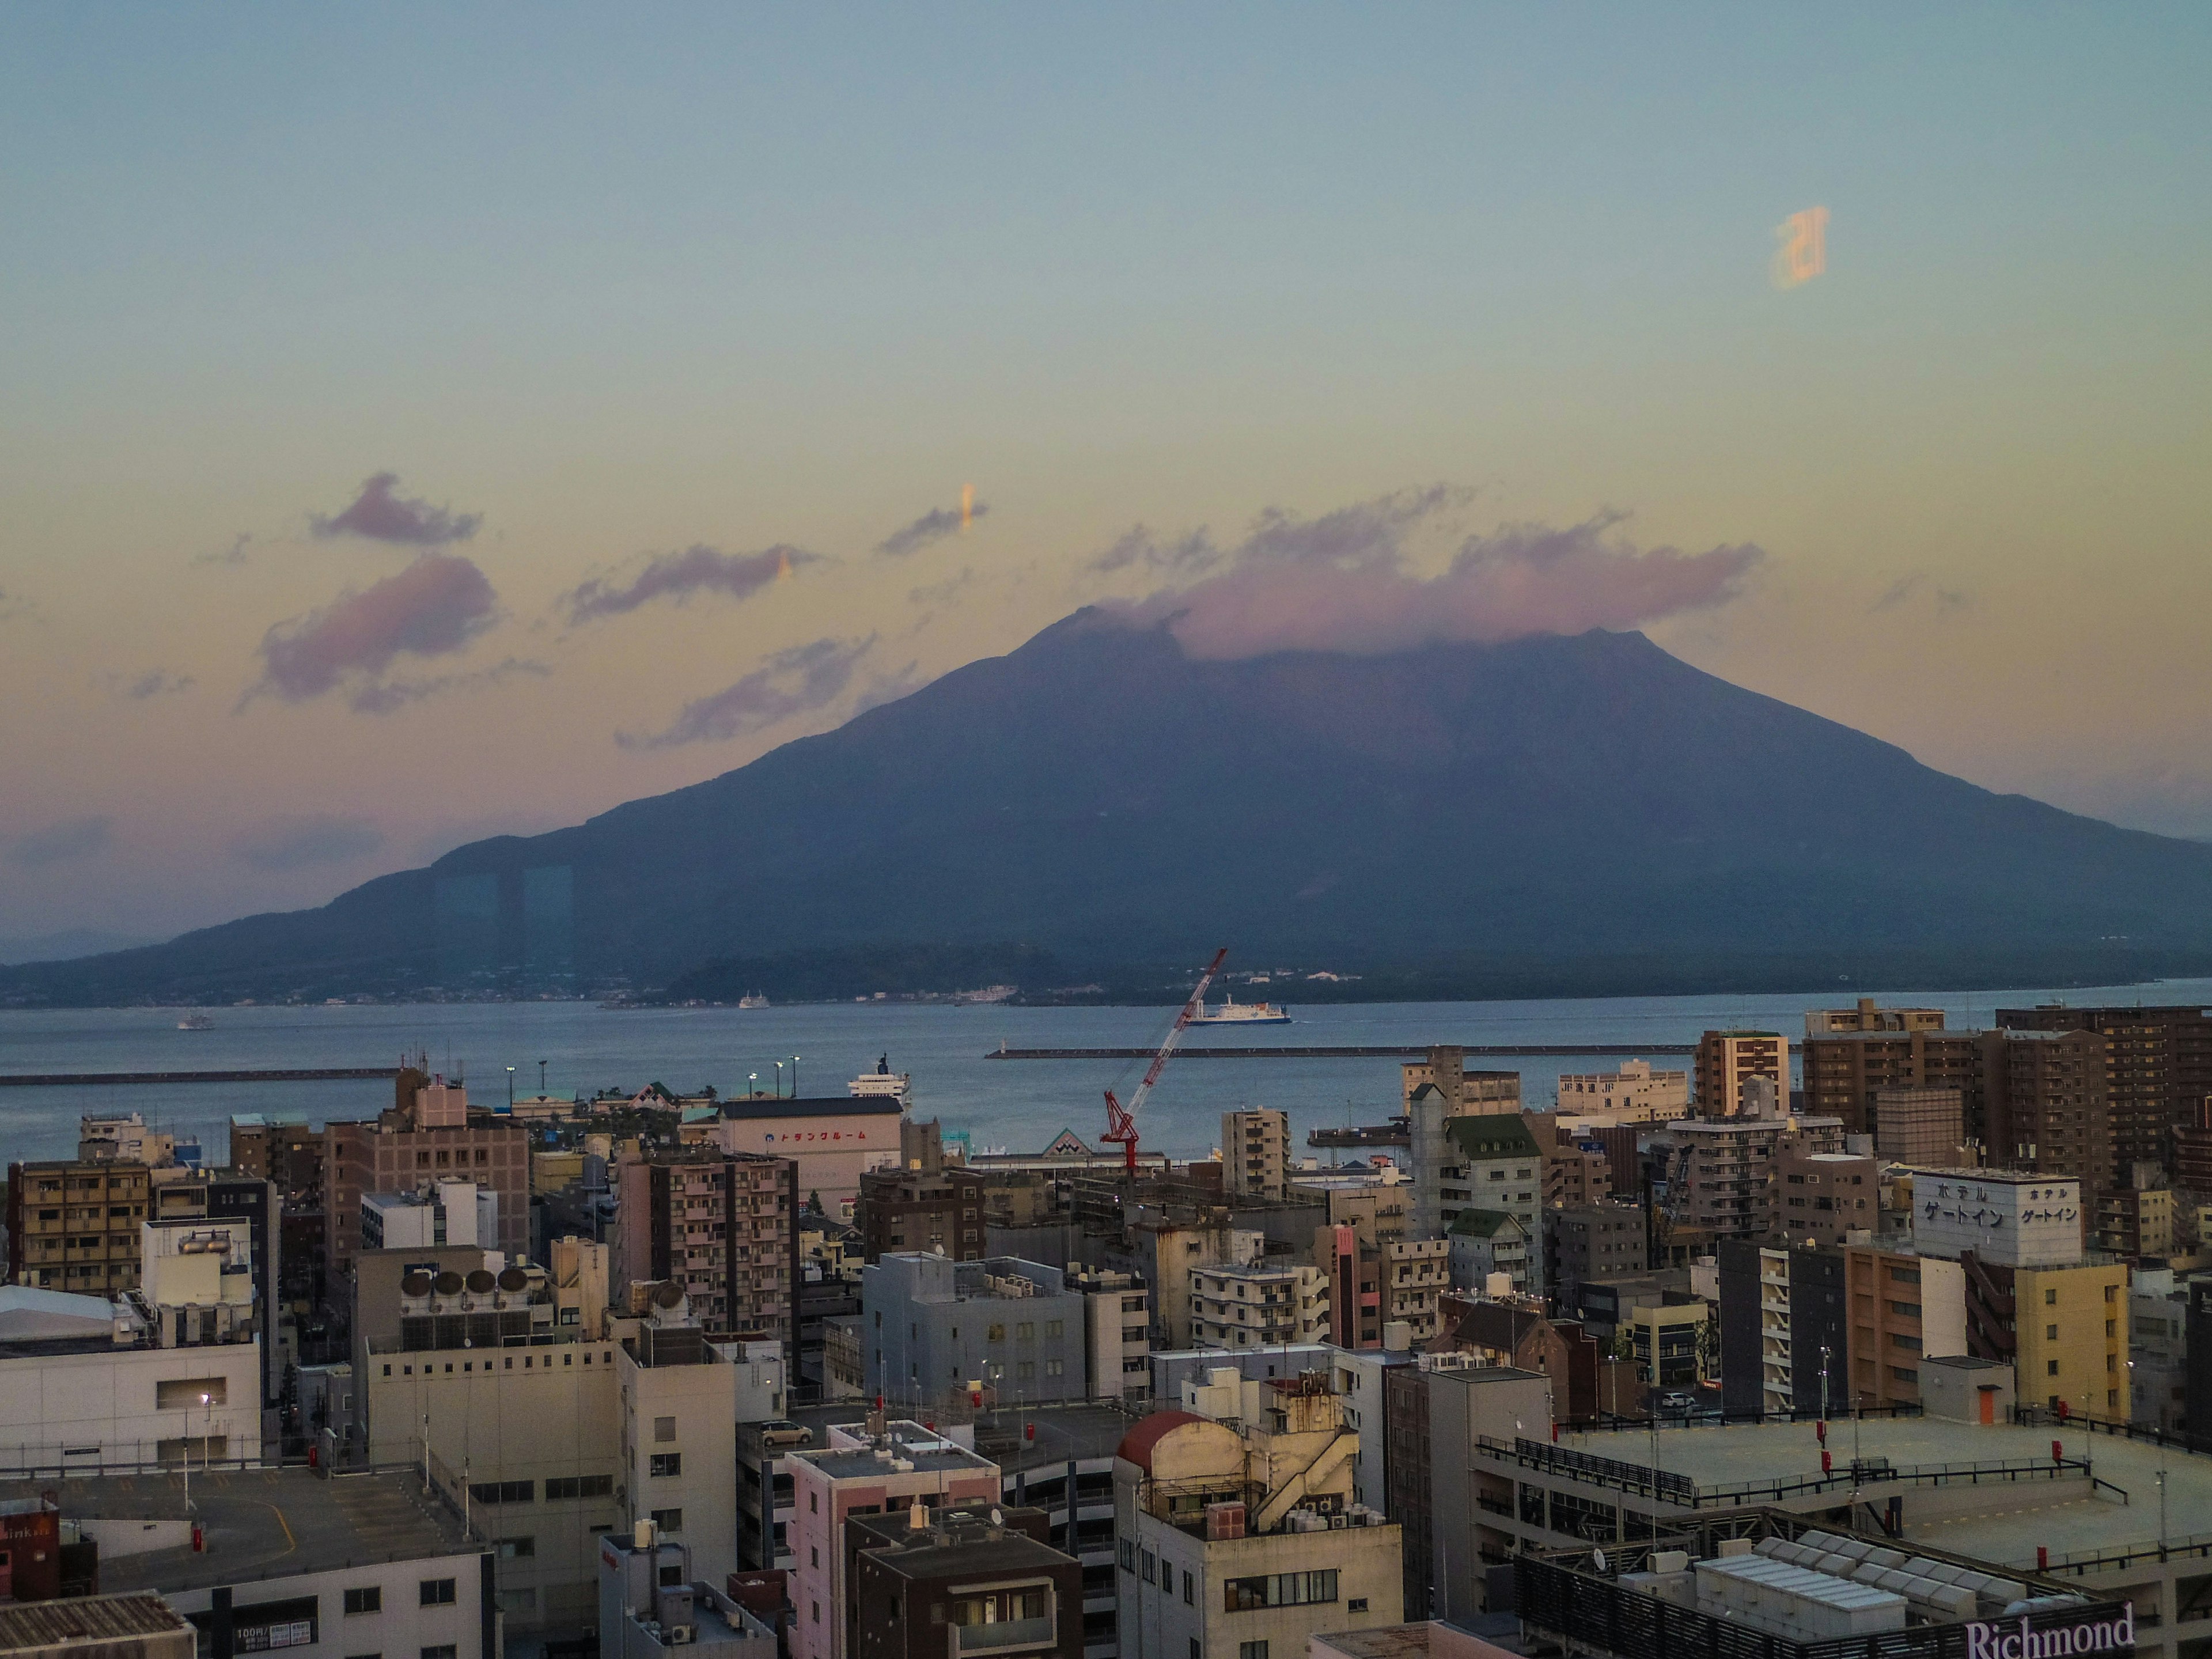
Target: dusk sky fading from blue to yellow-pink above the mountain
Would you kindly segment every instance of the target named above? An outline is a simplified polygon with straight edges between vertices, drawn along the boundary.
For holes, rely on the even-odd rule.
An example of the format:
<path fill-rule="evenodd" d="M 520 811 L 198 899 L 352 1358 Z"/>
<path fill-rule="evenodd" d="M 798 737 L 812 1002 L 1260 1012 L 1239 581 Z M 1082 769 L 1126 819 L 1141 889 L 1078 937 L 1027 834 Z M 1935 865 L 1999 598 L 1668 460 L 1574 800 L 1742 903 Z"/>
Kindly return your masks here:
<path fill-rule="evenodd" d="M 2208 69 L 2152 4 L 4 9 L 0 936 L 316 905 L 1091 602 L 1641 626 L 2212 836 Z"/>

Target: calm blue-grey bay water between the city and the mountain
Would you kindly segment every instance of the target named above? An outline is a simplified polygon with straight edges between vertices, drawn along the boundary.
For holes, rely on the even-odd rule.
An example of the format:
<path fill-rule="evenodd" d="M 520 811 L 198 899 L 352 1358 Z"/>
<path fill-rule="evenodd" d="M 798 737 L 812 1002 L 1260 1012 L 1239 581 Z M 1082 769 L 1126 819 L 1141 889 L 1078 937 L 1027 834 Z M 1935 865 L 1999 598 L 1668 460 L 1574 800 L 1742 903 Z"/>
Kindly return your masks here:
<path fill-rule="evenodd" d="M 2066 1000 L 2212 1002 L 2212 980 L 2148 987 L 1882 993 L 1949 1011 L 1951 1024 L 1986 1024 L 1995 1006 Z M 1681 1044 L 1712 1026 L 1772 1026 L 1801 1033 L 1809 995 L 1608 998 L 1588 1002 L 1376 1002 L 1292 1004 L 1296 1024 L 1199 1031 L 1192 1046 L 1259 1044 L 1511 1044 L 1599 1042 Z M 1168 1009 L 953 1009 L 896 1004 L 810 1004 L 790 1009 L 666 1009 L 615 1013 L 577 1002 L 416 1004 L 374 1009 L 215 1009 L 212 1031 L 177 1031 L 161 1009 L 0 1011 L 0 1073 L 168 1071 L 237 1066 L 389 1066 L 422 1048 L 434 1071 L 460 1073 L 480 1102 L 538 1093 L 538 1062 L 555 1095 L 593 1088 L 675 1091 L 712 1084 L 743 1093 L 759 1073 L 774 1079 L 779 1057 L 799 1055 L 807 1095 L 841 1095 L 845 1079 L 887 1053 L 894 1071 L 914 1073 L 925 1115 L 964 1128 L 978 1148 L 1035 1150 L 1062 1126 L 1093 1146 L 1104 1128 L 1102 1091 L 1128 1095 L 1144 1062 L 984 1060 L 1006 1042 L 1018 1048 L 1108 1048 L 1150 1044 Z M 1473 1062 L 1522 1073 L 1531 1106 L 1551 1102 L 1562 1071 L 1613 1071 L 1619 1057 Z M 1663 1060 L 1686 1068 L 1688 1060 Z M 392 1086 L 354 1084 L 184 1084 L 135 1088 L 0 1088 L 4 1159 L 69 1157 L 77 1117 L 137 1110 L 150 1124 L 197 1133 L 210 1161 L 228 1146 L 232 1113 L 299 1108 L 316 1121 L 369 1117 L 392 1102 Z M 1221 1113 L 1279 1106 L 1303 1141 L 1314 1124 L 1378 1121 L 1398 1102 L 1394 1060 L 1201 1060 L 1170 1064 L 1144 1113 L 1146 1146 L 1206 1155 L 1221 1137 Z"/>

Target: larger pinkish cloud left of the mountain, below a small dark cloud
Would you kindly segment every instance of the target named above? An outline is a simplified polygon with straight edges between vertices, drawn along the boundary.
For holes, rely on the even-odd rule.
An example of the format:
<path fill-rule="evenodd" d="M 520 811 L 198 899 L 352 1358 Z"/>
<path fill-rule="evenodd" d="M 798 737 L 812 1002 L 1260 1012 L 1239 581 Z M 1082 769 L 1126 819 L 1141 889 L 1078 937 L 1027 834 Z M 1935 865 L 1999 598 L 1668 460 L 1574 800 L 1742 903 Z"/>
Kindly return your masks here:
<path fill-rule="evenodd" d="M 456 553 L 425 553 L 398 575 L 270 628 L 261 637 L 261 679 L 243 701 L 268 692 L 299 703 L 349 675 L 376 677 L 398 657 L 456 653 L 498 611 L 498 595 L 476 564 Z"/>

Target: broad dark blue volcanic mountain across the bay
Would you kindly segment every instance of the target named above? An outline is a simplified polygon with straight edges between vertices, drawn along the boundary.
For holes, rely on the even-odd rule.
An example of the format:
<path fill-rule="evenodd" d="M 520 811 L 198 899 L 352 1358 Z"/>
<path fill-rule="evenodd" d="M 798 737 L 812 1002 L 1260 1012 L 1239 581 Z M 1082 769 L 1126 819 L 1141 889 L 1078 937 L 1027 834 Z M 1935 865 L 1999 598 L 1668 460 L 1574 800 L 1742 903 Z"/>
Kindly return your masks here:
<path fill-rule="evenodd" d="M 2115 938 L 2212 960 L 2212 847 L 1991 794 L 1641 635 L 1190 661 L 1086 611 L 688 790 L 0 987 L 666 984 L 922 940 L 1075 967 L 1964 942 L 2057 973 Z"/>

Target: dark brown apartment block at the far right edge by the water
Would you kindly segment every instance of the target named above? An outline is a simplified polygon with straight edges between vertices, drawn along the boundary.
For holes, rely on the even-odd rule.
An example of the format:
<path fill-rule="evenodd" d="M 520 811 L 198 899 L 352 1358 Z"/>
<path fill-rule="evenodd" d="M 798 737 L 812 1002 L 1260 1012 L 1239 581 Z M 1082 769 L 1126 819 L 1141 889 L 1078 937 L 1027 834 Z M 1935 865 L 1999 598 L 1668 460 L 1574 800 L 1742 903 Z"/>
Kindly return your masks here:
<path fill-rule="evenodd" d="M 2135 1164 L 2168 1161 L 2172 1130 L 2212 1099 L 2212 1011 L 2203 1006 L 1997 1009 L 1997 1026 L 2073 1031 L 2101 1048 L 2106 1164 L 2070 1170 L 2090 1188 L 2124 1183 Z"/>

